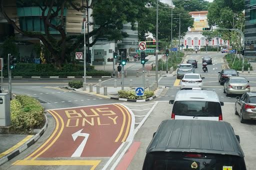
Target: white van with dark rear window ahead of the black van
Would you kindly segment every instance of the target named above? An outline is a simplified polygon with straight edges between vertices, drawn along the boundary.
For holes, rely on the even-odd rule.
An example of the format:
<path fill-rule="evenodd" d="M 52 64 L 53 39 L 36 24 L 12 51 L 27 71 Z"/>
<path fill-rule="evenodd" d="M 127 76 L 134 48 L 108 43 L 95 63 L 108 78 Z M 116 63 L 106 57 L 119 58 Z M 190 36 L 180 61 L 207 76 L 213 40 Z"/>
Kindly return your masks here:
<path fill-rule="evenodd" d="M 222 121 L 223 102 L 214 91 L 180 90 L 169 104 L 173 104 L 171 119 Z"/>

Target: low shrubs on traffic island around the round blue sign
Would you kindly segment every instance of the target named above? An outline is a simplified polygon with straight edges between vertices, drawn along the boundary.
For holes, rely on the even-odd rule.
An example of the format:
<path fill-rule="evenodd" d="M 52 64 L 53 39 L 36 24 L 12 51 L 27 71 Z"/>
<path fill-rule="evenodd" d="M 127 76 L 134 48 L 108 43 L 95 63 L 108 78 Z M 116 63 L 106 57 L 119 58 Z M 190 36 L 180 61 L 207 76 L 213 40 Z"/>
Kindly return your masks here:
<path fill-rule="evenodd" d="M 144 96 L 142 96 L 142 99 L 148 99 L 149 97 L 152 97 L 154 95 L 154 92 L 145 90 Z M 135 91 L 126 91 L 126 90 L 119 90 L 118 91 L 118 96 L 120 98 L 124 99 L 138 99 L 139 97 L 135 95 Z"/>

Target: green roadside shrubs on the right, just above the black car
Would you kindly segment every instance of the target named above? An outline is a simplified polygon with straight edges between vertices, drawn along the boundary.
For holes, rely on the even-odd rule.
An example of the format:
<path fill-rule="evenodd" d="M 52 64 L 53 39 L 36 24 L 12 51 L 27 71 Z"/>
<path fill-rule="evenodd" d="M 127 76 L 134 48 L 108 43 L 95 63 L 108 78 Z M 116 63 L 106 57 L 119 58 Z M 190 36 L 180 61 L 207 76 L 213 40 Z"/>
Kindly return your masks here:
<path fill-rule="evenodd" d="M 238 56 L 239 57 L 239 56 Z M 235 69 L 235 70 L 242 70 L 242 58 L 238 58 L 237 56 L 235 57 L 235 54 L 226 54 L 225 58 L 226 61 L 228 63 L 228 66 L 231 69 Z M 250 63 L 248 63 L 247 59 L 244 59 L 244 70 L 248 70 L 248 68 L 250 68 L 250 70 L 252 70 L 252 66 L 250 65 Z"/>

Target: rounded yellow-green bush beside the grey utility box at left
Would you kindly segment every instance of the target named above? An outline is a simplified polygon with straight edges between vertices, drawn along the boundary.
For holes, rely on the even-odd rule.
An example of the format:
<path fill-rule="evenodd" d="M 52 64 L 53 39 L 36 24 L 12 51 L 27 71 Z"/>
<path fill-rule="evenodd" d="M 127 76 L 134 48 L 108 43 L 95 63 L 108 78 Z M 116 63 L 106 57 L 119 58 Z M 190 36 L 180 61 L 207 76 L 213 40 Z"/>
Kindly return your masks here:
<path fill-rule="evenodd" d="M 29 96 L 17 95 L 10 101 L 11 124 L 18 132 L 32 132 L 44 123 L 43 107 Z"/>

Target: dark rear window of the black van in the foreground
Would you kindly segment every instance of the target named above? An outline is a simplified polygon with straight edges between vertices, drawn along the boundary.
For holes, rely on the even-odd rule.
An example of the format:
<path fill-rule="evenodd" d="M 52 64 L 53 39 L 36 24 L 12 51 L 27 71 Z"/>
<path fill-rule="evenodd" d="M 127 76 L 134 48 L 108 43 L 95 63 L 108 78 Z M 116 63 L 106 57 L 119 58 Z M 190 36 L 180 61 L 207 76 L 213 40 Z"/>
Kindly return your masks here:
<path fill-rule="evenodd" d="M 149 153 L 143 170 L 246 170 L 242 158 L 198 153 Z"/>

